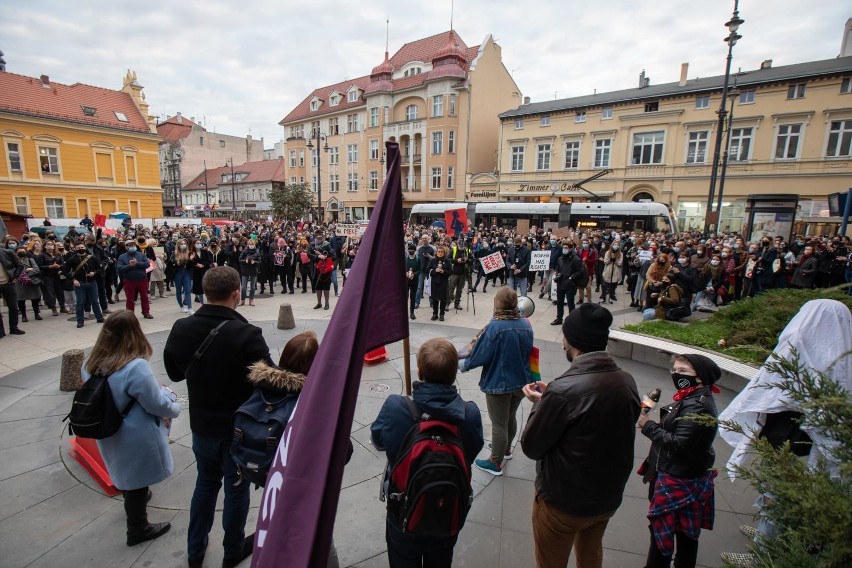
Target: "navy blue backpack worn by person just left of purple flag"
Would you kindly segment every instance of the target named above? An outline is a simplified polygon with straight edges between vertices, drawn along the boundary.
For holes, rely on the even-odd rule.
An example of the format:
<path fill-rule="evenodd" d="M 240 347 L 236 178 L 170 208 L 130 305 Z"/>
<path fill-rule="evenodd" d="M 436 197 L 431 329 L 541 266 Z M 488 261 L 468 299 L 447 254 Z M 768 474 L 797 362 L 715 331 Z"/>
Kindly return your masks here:
<path fill-rule="evenodd" d="M 241 480 L 245 479 L 258 487 L 266 485 L 266 476 L 275 459 L 278 442 L 298 400 L 299 393 L 288 393 L 273 399 L 268 393 L 255 389 L 234 413 L 231 457 L 237 465 Z"/>

